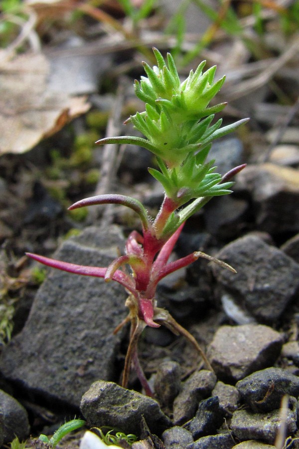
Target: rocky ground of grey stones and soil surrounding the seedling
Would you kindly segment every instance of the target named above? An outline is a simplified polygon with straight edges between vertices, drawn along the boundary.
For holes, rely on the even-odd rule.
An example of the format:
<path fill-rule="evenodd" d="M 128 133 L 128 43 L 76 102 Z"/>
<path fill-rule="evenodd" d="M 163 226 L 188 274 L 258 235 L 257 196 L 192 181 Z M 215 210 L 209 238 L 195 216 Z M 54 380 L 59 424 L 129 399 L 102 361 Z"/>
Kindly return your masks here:
<path fill-rule="evenodd" d="M 228 51 L 226 44 L 222 50 Z M 130 59 L 124 50 L 105 64 L 115 69 L 122 58 Z M 3 447 L 14 435 L 51 435 L 74 416 L 86 419 L 88 429 L 111 426 L 136 434 L 143 443 L 133 448 L 299 447 L 298 64 L 297 54 L 274 79 L 289 105 L 278 104 L 268 84 L 235 99 L 229 88 L 223 92 L 225 100 L 232 98 L 224 120 L 250 115 L 251 123 L 215 143 L 211 157 L 219 173 L 244 162 L 247 167 L 232 195 L 213 199 L 185 225 L 173 256 L 201 250 L 237 274 L 199 259 L 161 281 L 159 306 L 192 333 L 214 372 L 182 337 L 146 329 L 140 358 L 155 399 L 142 394 L 134 373 L 129 390 L 119 386 L 129 329 L 116 335 L 113 330 L 127 315 L 123 288 L 44 273 L 23 255 L 54 253 L 107 266 L 139 224 L 119 207 L 83 217 L 66 212 L 99 189 L 132 195 L 149 211 L 158 210 L 162 192 L 147 172 L 152 160 L 146 150 L 127 148 L 108 162 L 102 149 L 90 150 L 105 132 L 99 122 L 110 109 L 115 116 L 115 88 L 93 93 L 91 112 L 31 151 L 0 157 Z M 122 81 L 124 118 L 132 108 L 133 79 L 140 75 L 140 69 L 131 70 L 130 80 Z M 7 342 L 9 314 L 14 327 Z M 78 448 L 83 433 L 66 437 L 60 447 Z M 27 447 L 46 445 L 28 440 Z"/>

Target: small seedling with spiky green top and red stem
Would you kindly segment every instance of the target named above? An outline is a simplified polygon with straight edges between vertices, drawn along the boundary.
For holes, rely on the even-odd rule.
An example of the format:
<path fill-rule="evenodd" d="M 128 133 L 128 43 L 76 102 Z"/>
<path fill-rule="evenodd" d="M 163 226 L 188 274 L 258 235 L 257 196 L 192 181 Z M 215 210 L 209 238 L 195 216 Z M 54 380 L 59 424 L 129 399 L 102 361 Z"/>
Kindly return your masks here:
<path fill-rule="evenodd" d="M 145 138 L 135 136 L 107 137 L 97 143 L 134 144 L 148 149 L 156 156 L 158 169 L 149 173 L 162 184 L 164 199 L 156 217 L 150 217 L 141 202 L 124 195 L 99 195 L 73 204 L 74 210 L 100 204 L 120 204 L 135 211 L 141 220 L 142 233 L 134 230 L 126 241 L 125 254 L 113 260 L 108 267 L 83 266 L 28 253 L 29 257 L 70 273 L 102 277 L 122 284 L 129 296 L 126 305 L 128 317 L 115 333 L 131 322 L 130 343 L 125 360 L 123 387 L 127 387 L 131 364 L 146 393 L 152 395 L 138 358 L 138 340 L 146 328 L 165 326 L 174 334 L 184 336 L 200 353 L 207 368 L 212 367 L 194 337 L 165 309 L 157 307 L 157 283 L 167 274 L 188 266 L 199 257 L 235 271 L 231 266 L 203 252 L 195 251 L 168 262 L 172 249 L 185 221 L 199 211 L 211 198 L 231 193 L 231 179 L 245 165 L 235 167 L 224 176 L 215 172 L 214 160 L 207 162 L 212 142 L 236 130 L 248 119 L 221 127 L 222 120 L 213 123 L 214 115 L 226 103 L 209 106 L 225 78 L 214 82 L 216 67 L 205 72 L 202 62 L 183 82 L 180 81 L 174 60 L 167 54 L 167 64 L 161 53 L 153 48 L 157 65 L 143 62 L 147 76 L 135 81 L 136 95 L 143 100 L 145 111 L 137 112 L 128 121 Z M 127 121 L 127 122 L 128 122 Z M 130 273 L 124 270 L 130 266 Z"/>

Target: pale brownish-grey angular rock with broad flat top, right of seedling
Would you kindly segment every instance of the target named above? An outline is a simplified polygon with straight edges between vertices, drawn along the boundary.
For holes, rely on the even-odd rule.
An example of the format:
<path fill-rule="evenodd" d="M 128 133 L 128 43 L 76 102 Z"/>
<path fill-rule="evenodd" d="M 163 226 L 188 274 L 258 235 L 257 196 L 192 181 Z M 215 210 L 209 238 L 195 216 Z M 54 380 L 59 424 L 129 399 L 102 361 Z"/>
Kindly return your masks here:
<path fill-rule="evenodd" d="M 207 356 L 219 379 L 235 382 L 271 366 L 282 344 L 282 335 L 263 324 L 221 326 L 209 345 Z"/>

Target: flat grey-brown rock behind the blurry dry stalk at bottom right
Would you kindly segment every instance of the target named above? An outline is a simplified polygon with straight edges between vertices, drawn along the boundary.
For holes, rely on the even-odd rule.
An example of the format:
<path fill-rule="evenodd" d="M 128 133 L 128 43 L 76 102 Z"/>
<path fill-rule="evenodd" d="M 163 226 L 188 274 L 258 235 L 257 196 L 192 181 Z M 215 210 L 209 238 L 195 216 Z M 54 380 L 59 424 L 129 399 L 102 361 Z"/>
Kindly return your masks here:
<path fill-rule="evenodd" d="M 281 423 L 280 410 L 268 413 L 252 413 L 236 410 L 231 421 L 231 430 L 239 440 L 262 440 L 273 445 Z M 286 419 L 287 436 L 296 432 L 296 413 L 288 410 Z"/>

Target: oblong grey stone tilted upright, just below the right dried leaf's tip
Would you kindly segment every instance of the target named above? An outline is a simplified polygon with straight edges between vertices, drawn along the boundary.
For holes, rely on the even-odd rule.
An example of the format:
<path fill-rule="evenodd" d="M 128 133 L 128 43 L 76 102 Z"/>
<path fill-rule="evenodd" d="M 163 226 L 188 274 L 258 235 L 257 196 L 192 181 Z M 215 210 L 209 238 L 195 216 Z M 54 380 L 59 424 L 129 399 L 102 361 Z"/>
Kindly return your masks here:
<path fill-rule="evenodd" d="M 211 395 L 216 381 L 215 373 L 201 370 L 193 373 L 184 382 L 181 392 L 173 403 L 173 421 L 175 424 L 183 424 L 194 417 L 199 402 Z"/>

